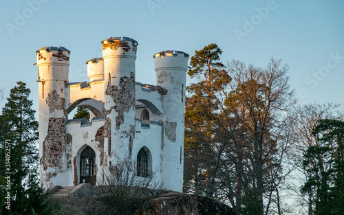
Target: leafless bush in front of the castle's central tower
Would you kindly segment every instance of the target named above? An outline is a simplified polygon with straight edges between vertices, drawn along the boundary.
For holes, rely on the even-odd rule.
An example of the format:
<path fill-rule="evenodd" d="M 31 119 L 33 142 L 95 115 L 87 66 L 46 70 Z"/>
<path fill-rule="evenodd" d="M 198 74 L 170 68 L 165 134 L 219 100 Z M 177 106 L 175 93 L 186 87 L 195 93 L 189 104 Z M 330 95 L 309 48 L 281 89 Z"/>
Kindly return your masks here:
<path fill-rule="evenodd" d="M 104 172 L 105 179 L 98 183 L 97 194 L 116 214 L 133 214 L 161 192 L 162 184 L 156 180 L 156 173 L 138 177 L 136 162 L 125 159 Z"/>

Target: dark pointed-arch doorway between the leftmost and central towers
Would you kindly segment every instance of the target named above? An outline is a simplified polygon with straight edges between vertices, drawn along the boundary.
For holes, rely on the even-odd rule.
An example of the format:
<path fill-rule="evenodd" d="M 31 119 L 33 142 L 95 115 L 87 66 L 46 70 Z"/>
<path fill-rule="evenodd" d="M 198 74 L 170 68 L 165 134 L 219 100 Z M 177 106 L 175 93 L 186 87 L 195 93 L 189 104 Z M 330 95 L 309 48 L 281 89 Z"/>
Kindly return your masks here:
<path fill-rule="evenodd" d="M 87 146 L 80 155 L 80 183 L 96 185 L 96 153 Z"/>

